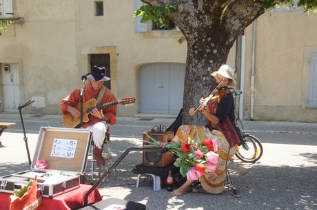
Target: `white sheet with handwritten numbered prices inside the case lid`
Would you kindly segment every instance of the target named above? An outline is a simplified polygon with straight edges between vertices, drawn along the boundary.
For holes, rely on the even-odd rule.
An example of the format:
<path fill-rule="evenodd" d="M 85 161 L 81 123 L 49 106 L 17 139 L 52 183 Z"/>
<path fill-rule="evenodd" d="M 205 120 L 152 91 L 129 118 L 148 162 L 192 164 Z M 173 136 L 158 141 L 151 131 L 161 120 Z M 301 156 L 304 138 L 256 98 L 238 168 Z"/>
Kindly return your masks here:
<path fill-rule="evenodd" d="M 52 157 L 74 158 L 77 146 L 76 139 L 54 138 Z"/>

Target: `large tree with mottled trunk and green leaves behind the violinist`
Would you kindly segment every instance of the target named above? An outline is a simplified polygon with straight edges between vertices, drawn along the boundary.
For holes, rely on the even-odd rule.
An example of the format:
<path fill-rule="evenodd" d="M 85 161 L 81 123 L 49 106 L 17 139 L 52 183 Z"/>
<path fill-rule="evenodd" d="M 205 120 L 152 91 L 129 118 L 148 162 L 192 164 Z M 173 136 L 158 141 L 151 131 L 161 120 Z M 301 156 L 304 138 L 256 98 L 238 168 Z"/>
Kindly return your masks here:
<path fill-rule="evenodd" d="M 183 96 L 183 123 L 203 125 L 201 115 L 189 117 L 201 96 L 207 96 L 216 83 L 210 74 L 227 62 L 229 50 L 239 35 L 266 10 L 274 6 L 294 6 L 294 0 L 141 0 L 135 16 L 141 22 L 154 19 L 164 25 L 171 19 L 187 41 L 187 60 Z M 317 1 L 299 0 L 304 12 L 316 12 Z"/>

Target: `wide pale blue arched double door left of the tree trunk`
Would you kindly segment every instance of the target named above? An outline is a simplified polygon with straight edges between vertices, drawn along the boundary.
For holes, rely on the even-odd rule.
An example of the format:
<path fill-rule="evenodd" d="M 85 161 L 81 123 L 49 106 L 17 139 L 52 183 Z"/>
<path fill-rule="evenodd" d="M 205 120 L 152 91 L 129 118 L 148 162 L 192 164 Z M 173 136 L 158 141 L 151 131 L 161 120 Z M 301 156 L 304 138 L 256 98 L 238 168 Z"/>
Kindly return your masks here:
<path fill-rule="evenodd" d="M 140 113 L 178 114 L 183 107 L 185 64 L 152 63 L 140 69 Z"/>

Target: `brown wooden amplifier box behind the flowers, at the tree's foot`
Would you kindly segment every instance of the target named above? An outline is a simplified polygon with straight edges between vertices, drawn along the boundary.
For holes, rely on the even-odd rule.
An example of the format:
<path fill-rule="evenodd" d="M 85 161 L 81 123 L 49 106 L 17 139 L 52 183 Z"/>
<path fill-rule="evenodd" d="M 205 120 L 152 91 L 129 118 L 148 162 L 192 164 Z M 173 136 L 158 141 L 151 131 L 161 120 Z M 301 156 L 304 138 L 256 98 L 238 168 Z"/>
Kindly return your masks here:
<path fill-rule="evenodd" d="M 166 132 L 163 134 L 144 132 L 143 140 L 152 142 L 153 140 L 149 138 L 149 136 L 155 140 L 159 140 L 160 143 L 164 144 L 170 142 L 172 138 L 174 138 L 174 132 Z M 144 145 L 149 144 L 143 142 L 143 146 Z M 143 151 L 142 154 L 142 165 L 145 166 L 165 167 L 167 165 L 172 164 L 173 161 L 173 154 L 170 151 L 167 151 L 165 154 L 159 154 L 157 152 L 152 151 Z"/>

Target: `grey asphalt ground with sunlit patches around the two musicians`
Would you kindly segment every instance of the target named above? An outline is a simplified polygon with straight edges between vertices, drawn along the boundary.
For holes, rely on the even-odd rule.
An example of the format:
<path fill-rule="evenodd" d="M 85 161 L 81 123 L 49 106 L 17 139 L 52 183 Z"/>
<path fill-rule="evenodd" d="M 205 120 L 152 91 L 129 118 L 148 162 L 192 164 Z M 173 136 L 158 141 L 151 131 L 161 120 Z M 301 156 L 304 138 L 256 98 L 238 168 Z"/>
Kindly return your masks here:
<path fill-rule="evenodd" d="M 21 122 L 25 127 L 25 135 Z M 17 125 L 0 137 L 6 146 L 0 148 L 0 176 L 29 169 L 25 139 L 30 156 L 34 154 L 41 127 L 62 127 L 61 116 L 0 113 L 0 122 Z M 174 118 L 118 117 L 111 130 L 112 160 L 118 160 L 130 147 L 142 147 L 143 132 L 156 125 L 170 126 Z M 245 163 L 232 158 L 229 171 L 238 192 L 227 189 L 221 195 L 194 189 L 183 196 L 172 197 L 163 186 L 154 191 L 151 181 L 141 179 L 136 188 L 133 170 L 142 162 L 142 153 L 132 151 L 106 177 L 98 189 L 103 198 L 121 198 L 146 204 L 147 209 L 317 209 L 317 123 L 244 121 L 245 131 L 263 143 L 264 154 L 258 162 Z M 109 167 L 110 165 L 106 165 Z M 90 180 L 90 165 L 86 170 Z M 103 173 L 105 169 L 101 172 Z"/>

